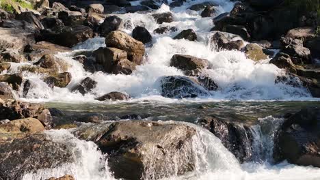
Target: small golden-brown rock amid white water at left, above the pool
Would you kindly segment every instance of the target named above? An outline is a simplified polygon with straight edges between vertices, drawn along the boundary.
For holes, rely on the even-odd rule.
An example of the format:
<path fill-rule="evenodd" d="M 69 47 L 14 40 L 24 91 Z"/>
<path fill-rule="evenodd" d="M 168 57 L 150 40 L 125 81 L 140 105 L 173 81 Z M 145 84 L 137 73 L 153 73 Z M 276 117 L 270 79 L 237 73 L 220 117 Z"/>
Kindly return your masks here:
<path fill-rule="evenodd" d="M 57 74 L 52 74 L 49 77 L 44 78 L 44 82 L 46 84 L 53 88 L 53 87 L 66 87 L 70 81 L 71 81 L 71 74 L 70 72 L 63 72 L 63 73 L 57 73 Z"/>

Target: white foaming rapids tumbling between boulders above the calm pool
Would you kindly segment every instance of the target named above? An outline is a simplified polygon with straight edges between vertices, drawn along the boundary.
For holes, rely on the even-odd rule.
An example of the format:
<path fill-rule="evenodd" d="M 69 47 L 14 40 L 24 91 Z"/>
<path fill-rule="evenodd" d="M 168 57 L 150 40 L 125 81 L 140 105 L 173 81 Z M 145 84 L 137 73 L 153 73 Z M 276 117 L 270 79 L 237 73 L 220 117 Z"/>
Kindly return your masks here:
<path fill-rule="evenodd" d="M 25 79 L 36 82 L 25 99 L 36 102 L 96 102 L 94 97 L 104 95 L 111 91 L 125 92 L 131 95 L 129 101 L 142 102 L 145 100 L 156 102 L 176 102 L 161 97 L 159 79 L 162 76 L 183 76 L 181 70 L 170 67 L 170 59 L 174 54 L 192 55 L 208 59 L 210 69 L 204 70 L 203 74 L 209 75 L 219 89 L 212 91 L 209 97 L 201 97 L 189 101 L 220 101 L 220 100 L 314 100 L 308 90 L 304 87 L 291 87 L 285 83 L 275 83 L 276 77 L 284 75 L 284 71 L 275 65 L 269 64 L 270 59 L 261 62 L 254 62 L 247 59 L 245 54 L 236 50 L 220 51 L 215 50 L 215 44 L 211 44 L 210 37 L 214 32 L 210 29 L 214 26 L 212 18 L 201 18 L 200 12 L 188 10 L 190 5 L 204 2 L 203 0 L 187 1 L 181 7 L 170 10 L 168 5 L 162 5 L 159 10 L 146 14 L 128 13 L 118 14 L 122 18 L 121 31 L 131 34 L 136 26 L 143 26 L 152 34 L 152 42 L 146 44 L 144 64 L 137 66 L 131 75 L 105 74 L 103 72 L 85 72 L 81 63 L 72 60 L 72 55 L 83 50 L 96 50 L 105 46 L 103 37 L 96 37 L 78 44 L 72 52 L 59 53 L 56 56 L 64 59 L 70 65 L 68 72 L 72 74 L 72 81 L 66 88 L 54 87 L 51 89 L 44 83 L 41 74 L 23 72 Z M 213 1 L 219 4 L 217 14 L 230 12 L 234 2 L 226 0 Z M 139 4 L 139 1 L 133 1 Z M 174 22 L 158 25 L 152 14 L 161 12 L 172 12 Z M 173 26 L 178 29 L 175 32 L 165 34 L 153 33 L 158 27 Z M 194 29 L 198 35 L 198 41 L 173 40 L 176 34 L 184 29 Z M 240 37 L 234 37 L 235 40 Z M 16 73 L 18 67 L 29 63 L 12 63 L 9 72 Z M 96 80 L 97 86 L 92 92 L 85 95 L 70 92 L 70 89 L 77 85 L 83 78 L 90 77 Z M 299 79 L 293 79 L 298 84 Z M 21 86 L 23 87 L 23 85 Z M 23 89 L 17 93 L 22 98 Z"/>

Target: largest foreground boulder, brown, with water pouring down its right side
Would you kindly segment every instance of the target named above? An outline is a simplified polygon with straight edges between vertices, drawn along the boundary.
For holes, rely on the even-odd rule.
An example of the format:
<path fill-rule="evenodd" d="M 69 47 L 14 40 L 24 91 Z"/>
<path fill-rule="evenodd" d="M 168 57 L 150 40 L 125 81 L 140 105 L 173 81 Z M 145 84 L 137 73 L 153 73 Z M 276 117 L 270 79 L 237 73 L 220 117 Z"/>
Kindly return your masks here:
<path fill-rule="evenodd" d="M 116 178 L 147 179 L 152 170 L 160 179 L 193 170 L 194 159 L 189 157 L 194 134 L 194 128 L 180 123 L 122 121 L 112 123 L 97 143 L 109 154 L 108 164 Z M 170 166 L 173 159 L 178 168 Z"/>

